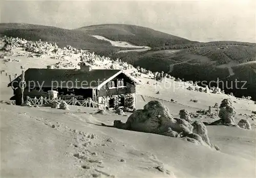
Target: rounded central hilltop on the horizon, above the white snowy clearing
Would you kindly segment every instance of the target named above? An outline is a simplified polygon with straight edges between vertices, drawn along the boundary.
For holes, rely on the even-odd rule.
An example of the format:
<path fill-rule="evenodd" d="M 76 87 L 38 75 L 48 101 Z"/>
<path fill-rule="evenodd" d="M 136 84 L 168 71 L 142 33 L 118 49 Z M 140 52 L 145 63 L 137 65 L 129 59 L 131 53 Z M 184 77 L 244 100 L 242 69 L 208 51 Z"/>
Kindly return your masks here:
<path fill-rule="evenodd" d="M 161 45 L 174 45 L 196 43 L 185 38 L 159 32 L 150 28 L 132 26 L 129 24 L 100 24 L 76 29 L 85 31 L 90 35 L 100 35 L 113 41 L 127 41 L 140 46 L 157 47 Z"/>

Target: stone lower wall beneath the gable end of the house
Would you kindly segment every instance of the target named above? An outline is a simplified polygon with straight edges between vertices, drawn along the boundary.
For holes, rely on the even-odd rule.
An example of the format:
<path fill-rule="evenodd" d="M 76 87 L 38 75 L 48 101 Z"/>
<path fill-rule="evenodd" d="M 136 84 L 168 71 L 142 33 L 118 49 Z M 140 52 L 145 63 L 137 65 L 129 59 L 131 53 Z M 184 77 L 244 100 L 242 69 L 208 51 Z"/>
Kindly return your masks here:
<path fill-rule="evenodd" d="M 135 108 L 135 93 L 119 94 L 112 96 L 100 96 L 98 97 L 98 103 L 103 104 L 106 108 L 109 107 L 109 100 L 114 99 L 114 109 L 119 108 L 119 98 L 124 97 L 124 106 L 127 108 Z"/>

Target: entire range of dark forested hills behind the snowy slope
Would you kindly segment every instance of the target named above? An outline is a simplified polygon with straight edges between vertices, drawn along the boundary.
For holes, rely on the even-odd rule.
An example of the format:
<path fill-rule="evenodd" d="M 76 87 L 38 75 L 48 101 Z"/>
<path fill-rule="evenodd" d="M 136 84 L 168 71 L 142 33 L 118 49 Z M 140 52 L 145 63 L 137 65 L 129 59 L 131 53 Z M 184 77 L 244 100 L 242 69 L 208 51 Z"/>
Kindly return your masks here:
<path fill-rule="evenodd" d="M 244 87 L 247 87 L 247 90 L 228 89 L 226 84 L 219 87 L 223 87 L 226 92 L 233 92 L 238 97 L 250 95 L 256 100 L 256 73 L 252 68 L 256 59 L 255 43 L 237 41 L 201 43 L 127 24 L 101 24 L 68 30 L 26 23 L 1 23 L 0 34 L 33 41 L 41 39 L 56 42 L 60 47 L 69 44 L 114 60 L 121 59 L 134 66 L 139 65 L 152 71 L 164 71 L 184 80 L 217 81 L 219 79 L 230 86 L 232 81 L 239 79 L 246 81 Z M 97 39 L 92 35 L 109 40 Z M 113 46 L 110 40 L 150 46 L 151 49 L 129 52 L 133 48 Z M 126 50 L 126 53 L 118 53 L 121 50 Z M 232 75 L 230 70 L 233 70 Z"/>

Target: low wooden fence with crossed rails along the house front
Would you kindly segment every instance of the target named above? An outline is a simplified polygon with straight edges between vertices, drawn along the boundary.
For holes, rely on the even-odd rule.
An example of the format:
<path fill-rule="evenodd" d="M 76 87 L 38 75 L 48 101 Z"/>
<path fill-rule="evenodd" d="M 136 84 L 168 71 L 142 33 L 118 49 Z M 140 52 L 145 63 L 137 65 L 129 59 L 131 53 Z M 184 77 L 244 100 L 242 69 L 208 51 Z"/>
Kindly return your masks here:
<path fill-rule="evenodd" d="M 105 110 L 105 106 L 99 103 L 96 103 L 95 101 L 91 100 L 91 99 L 83 99 L 83 100 L 79 100 L 76 99 L 75 97 L 72 97 L 71 99 L 65 100 L 65 99 L 49 99 L 47 97 L 39 97 L 39 98 L 31 98 L 29 96 L 27 96 L 27 101 L 29 101 L 31 103 L 31 106 L 38 106 L 38 105 L 45 105 L 45 104 L 50 104 L 52 103 L 52 101 L 65 101 L 68 105 L 75 105 L 75 106 L 83 106 L 83 107 L 91 107 L 91 108 L 99 108 L 99 109 L 103 109 Z"/>

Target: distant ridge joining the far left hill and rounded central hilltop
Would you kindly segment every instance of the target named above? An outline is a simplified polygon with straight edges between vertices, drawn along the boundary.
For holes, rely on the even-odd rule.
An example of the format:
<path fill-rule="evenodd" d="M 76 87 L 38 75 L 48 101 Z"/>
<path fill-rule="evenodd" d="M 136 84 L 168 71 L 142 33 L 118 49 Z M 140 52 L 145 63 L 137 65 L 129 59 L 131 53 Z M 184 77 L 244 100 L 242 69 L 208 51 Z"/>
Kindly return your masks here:
<path fill-rule="evenodd" d="M 165 44 L 194 43 L 188 39 L 156 31 L 150 28 L 126 24 L 102 24 L 68 30 L 57 27 L 41 26 L 27 23 L 0 23 L 0 34 L 26 38 L 29 40 L 54 41 L 62 45 L 65 41 L 74 43 L 74 47 L 95 49 L 98 44 L 109 42 L 97 40 L 92 35 L 101 35 L 114 41 L 127 41 L 136 45 L 157 47 Z M 87 47 L 81 43 L 90 43 Z M 94 44 L 94 45 L 93 45 Z M 65 45 L 65 44 L 63 44 Z M 105 46 L 103 46 L 105 47 Z M 111 47 L 110 47 L 111 48 Z"/>

